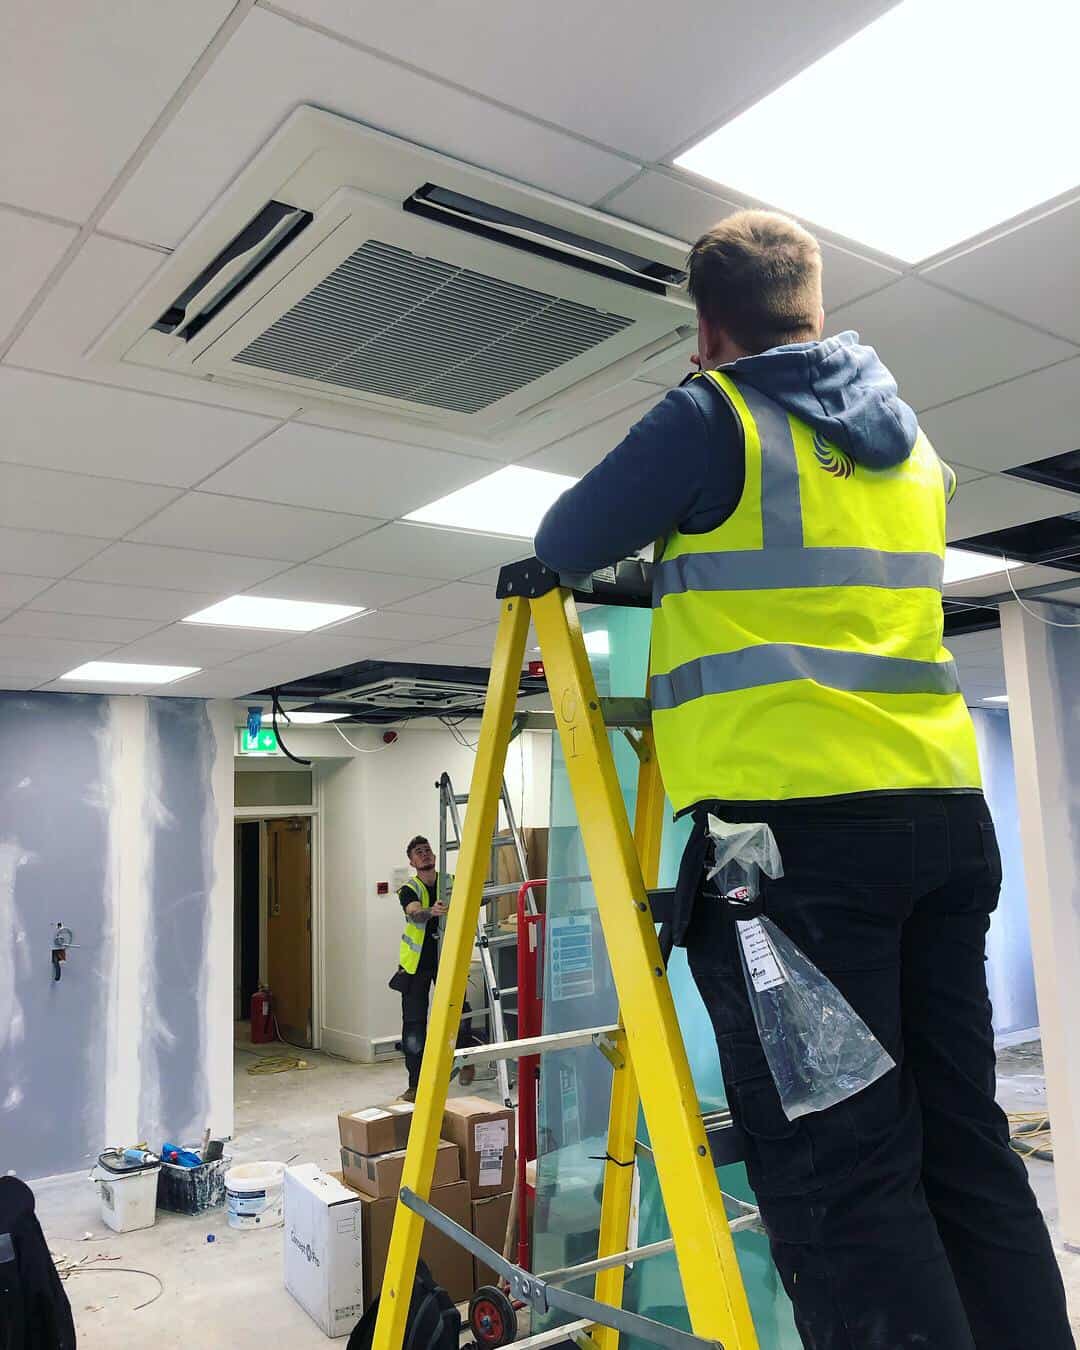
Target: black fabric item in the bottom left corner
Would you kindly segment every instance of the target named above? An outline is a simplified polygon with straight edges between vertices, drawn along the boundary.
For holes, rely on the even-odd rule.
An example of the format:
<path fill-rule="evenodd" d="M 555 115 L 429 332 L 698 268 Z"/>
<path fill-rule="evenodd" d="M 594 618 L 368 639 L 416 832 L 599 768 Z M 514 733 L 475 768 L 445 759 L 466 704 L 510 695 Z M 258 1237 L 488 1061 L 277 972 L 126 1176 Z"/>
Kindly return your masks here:
<path fill-rule="evenodd" d="M 72 1305 L 34 1192 L 16 1177 L 0 1177 L 0 1350 L 76 1350 Z"/>

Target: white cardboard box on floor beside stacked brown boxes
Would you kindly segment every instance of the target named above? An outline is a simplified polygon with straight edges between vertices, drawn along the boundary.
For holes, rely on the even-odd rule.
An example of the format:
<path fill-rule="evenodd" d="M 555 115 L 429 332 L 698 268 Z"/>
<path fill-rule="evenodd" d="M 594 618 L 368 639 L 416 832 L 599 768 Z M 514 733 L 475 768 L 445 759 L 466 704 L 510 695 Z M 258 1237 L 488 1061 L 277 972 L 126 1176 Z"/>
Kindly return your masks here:
<path fill-rule="evenodd" d="M 328 1336 L 363 1312 L 360 1200 L 313 1162 L 285 1169 L 285 1288 Z"/>

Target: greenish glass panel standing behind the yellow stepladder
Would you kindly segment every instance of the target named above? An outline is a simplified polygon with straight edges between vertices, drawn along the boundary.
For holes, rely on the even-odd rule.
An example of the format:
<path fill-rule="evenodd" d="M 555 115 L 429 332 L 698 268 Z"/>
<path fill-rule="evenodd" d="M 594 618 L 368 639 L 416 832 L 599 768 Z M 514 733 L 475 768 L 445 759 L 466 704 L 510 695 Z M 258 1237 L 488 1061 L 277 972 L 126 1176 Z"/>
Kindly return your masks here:
<path fill-rule="evenodd" d="M 598 608 L 582 614 L 582 628 L 586 633 L 606 634 L 606 641 L 602 637 L 589 641 L 599 693 L 640 697 L 645 688 L 649 614 L 637 609 Z M 637 757 L 621 733 L 612 733 L 612 742 L 626 810 L 633 819 Z M 662 886 L 674 886 L 688 833 L 688 822 L 674 822 L 670 815 L 668 810 L 660 861 Z M 548 875 L 576 878 L 586 871 L 566 763 L 556 737 Z M 618 1004 L 591 883 L 555 882 L 548 887 L 547 913 L 544 1033 L 613 1022 Z M 672 954 L 670 979 L 702 1110 L 716 1110 L 725 1104 L 720 1060 L 709 1017 L 682 949 Z M 597 1254 L 610 1091 L 612 1069 L 591 1046 L 562 1050 L 541 1060 L 533 1251 L 533 1269 L 537 1272 L 575 1265 Z M 644 1119 L 639 1120 L 639 1139 L 648 1139 Z M 670 1237 L 655 1169 L 645 1162 L 640 1170 L 640 1226 L 639 1233 L 630 1237 L 632 1245 Z M 741 1164 L 722 1168 L 720 1184 L 729 1195 L 753 1199 Z M 763 1350 L 799 1350 L 791 1305 L 764 1237 L 738 1234 L 736 1249 Z M 567 1288 L 591 1295 L 593 1278 Z M 674 1254 L 639 1262 L 629 1272 L 624 1307 L 688 1330 Z M 549 1314 L 547 1320 L 537 1319 L 537 1330 L 566 1320 L 570 1319 L 562 1314 Z M 647 1346 L 647 1342 L 629 1336 L 621 1343 L 626 1350 L 645 1350 Z"/>

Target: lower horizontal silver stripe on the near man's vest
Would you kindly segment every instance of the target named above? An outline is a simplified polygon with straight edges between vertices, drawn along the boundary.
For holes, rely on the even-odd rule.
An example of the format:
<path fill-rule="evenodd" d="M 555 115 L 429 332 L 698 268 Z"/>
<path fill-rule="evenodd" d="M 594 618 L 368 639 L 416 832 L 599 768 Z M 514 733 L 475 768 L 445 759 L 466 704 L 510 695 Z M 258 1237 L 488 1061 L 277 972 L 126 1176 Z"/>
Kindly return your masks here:
<path fill-rule="evenodd" d="M 764 643 L 737 652 L 717 652 L 653 675 L 649 698 L 657 711 L 682 707 L 707 694 L 810 679 L 850 694 L 956 694 L 954 662 L 913 662 L 902 656 L 842 652 L 829 647 Z"/>

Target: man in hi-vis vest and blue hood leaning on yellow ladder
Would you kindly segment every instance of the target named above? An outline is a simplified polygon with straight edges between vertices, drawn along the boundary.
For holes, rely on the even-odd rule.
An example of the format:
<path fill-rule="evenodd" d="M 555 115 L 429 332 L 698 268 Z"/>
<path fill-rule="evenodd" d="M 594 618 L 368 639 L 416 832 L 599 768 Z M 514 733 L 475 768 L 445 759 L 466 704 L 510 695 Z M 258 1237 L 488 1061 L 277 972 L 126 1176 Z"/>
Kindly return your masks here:
<path fill-rule="evenodd" d="M 927 208 L 932 209 L 932 208 Z M 944 649 L 954 477 L 871 347 L 821 340 L 821 251 L 745 211 L 690 255 L 701 373 L 549 510 L 586 574 L 660 539 L 651 701 L 693 813 L 675 936 L 709 1008 L 772 1253 L 815 1350 L 1066 1350 L 1061 1277 L 994 1100 L 984 938 L 1000 859 Z M 770 917 L 898 1069 L 790 1122 L 706 815 L 764 821 Z"/>

